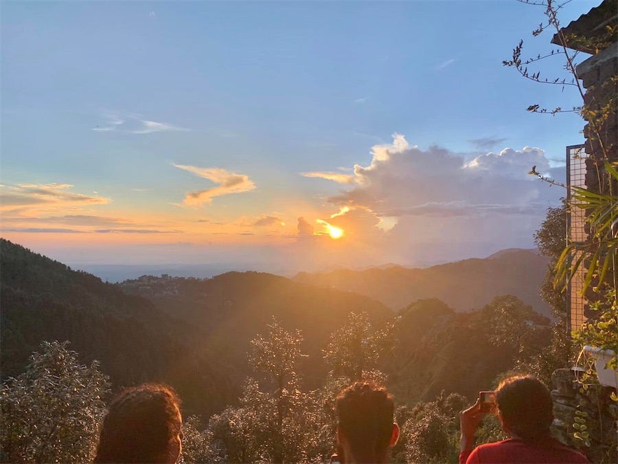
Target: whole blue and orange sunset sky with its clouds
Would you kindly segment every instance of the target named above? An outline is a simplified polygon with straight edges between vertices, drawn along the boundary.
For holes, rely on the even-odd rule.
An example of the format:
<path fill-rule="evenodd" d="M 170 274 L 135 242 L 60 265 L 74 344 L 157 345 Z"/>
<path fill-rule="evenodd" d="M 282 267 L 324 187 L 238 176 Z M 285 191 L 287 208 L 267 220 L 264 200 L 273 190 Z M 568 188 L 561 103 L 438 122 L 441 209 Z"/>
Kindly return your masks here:
<path fill-rule="evenodd" d="M 573 0 L 562 25 L 599 1 Z M 534 247 L 580 144 L 543 8 L 2 1 L 0 235 L 69 265 L 427 265 Z M 580 56 L 584 60 L 587 56 Z M 567 77 L 564 60 L 536 63 Z"/>

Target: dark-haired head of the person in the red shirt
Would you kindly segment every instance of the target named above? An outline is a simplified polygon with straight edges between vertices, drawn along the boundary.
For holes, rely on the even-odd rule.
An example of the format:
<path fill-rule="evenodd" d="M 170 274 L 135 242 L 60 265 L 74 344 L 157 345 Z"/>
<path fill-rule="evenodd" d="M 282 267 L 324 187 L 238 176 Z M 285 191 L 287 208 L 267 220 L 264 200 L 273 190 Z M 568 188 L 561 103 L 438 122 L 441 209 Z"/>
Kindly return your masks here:
<path fill-rule="evenodd" d="M 515 375 L 500 382 L 496 407 L 503 430 L 523 440 L 545 436 L 553 421 L 551 394 L 534 377 Z"/>

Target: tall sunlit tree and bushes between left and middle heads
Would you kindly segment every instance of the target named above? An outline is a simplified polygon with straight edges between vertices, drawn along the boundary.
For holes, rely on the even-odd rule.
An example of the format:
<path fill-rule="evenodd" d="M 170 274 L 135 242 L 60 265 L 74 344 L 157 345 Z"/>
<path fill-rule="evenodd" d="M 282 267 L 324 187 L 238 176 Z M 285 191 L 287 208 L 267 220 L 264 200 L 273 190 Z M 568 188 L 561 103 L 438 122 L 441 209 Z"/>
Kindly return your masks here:
<path fill-rule="evenodd" d="M 308 395 L 298 386 L 302 336 L 288 332 L 275 320 L 268 335 L 251 341 L 251 364 L 274 384 L 262 391 L 249 378 L 239 408 L 228 408 L 211 418 L 208 433 L 216 459 L 226 462 L 296 463 L 304 461 L 306 434 L 302 427 Z"/>

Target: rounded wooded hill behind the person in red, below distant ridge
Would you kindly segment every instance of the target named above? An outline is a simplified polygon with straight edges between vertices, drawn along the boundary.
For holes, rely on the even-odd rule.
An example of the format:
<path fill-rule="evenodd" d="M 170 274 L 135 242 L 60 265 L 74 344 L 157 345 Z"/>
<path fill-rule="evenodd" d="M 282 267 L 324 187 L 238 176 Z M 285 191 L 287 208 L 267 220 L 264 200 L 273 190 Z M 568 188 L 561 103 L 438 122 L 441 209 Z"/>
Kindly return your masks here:
<path fill-rule="evenodd" d="M 418 300 L 398 313 L 393 391 L 413 401 L 432 401 L 442 390 L 472 399 L 538 355 L 551 338 L 549 322 L 514 296 L 466 313 L 437 298 Z"/>

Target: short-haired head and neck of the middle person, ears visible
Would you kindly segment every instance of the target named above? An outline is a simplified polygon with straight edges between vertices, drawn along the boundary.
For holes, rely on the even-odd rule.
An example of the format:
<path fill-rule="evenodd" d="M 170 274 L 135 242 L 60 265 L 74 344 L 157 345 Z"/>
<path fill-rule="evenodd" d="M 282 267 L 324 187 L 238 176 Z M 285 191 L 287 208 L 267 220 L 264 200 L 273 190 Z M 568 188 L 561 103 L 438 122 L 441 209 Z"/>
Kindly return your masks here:
<path fill-rule="evenodd" d="M 388 462 L 399 438 L 393 396 L 372 382 L 356 382 L 337 397 L 337 442 L 345 463 Z"/>

